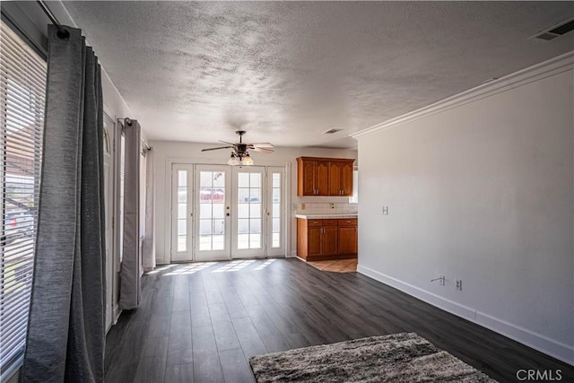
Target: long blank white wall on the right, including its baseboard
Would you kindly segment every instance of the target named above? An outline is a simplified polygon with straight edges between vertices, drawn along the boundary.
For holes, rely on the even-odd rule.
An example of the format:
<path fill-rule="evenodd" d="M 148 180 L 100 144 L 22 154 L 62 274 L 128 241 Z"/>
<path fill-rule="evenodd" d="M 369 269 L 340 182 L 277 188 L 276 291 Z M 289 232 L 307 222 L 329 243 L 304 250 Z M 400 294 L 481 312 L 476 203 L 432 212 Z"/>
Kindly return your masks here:
<path fill-rule="evenodd" d="M 573 363 L 567 61 L 358 136 L 359 271 Z"/>

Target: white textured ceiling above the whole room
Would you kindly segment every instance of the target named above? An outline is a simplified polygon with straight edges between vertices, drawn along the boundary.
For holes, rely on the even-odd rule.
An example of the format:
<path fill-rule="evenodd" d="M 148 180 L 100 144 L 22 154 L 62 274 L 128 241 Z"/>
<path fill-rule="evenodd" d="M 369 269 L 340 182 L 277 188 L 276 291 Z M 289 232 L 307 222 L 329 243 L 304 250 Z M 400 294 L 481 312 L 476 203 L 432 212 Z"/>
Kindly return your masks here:
<path fill-rule="evenodd" d="M 63 2 L 148 139 L 352 132 L 574 49 L 572 2 Z M 335 135 L 323 135 L 330 128 Z"/>

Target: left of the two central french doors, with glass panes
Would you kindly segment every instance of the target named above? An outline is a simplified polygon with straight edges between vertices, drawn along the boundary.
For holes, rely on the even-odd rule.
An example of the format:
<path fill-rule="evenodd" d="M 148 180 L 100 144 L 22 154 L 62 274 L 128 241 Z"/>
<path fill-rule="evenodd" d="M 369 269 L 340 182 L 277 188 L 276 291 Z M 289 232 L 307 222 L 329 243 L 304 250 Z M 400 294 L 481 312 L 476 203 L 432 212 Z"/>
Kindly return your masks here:
<path fill-rule="evenodd" d="M 196 260 L 230 258 L 230 179 L 227 166 L 197 165 Z"/>

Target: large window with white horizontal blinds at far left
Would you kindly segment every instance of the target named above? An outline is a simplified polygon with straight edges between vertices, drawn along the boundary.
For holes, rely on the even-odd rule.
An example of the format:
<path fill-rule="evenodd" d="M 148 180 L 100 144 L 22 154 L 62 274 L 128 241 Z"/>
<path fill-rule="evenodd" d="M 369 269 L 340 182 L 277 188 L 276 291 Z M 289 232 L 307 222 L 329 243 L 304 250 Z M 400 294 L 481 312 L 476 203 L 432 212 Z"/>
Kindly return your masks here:
<path fill-rule="evenodd" d="M 4 22 L 0 38 L 0 380 L 4 380 L 19 366 L 26 340 L 47 65 Z"/>

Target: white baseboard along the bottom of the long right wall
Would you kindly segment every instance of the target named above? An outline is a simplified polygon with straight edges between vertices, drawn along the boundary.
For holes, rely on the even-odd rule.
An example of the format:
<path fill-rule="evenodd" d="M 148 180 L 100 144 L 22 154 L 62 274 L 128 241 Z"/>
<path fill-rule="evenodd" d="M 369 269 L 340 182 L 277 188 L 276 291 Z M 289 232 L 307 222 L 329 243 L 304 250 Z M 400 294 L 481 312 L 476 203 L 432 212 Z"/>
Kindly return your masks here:
<path fill-rule="evenodd" d="M 447 300 L 437 294 L 433 294 L 432 292 L 427 292 L 426 290 L 413 286 L 412 284 L 399 281 L 392 276 L 379 273 L 370 267 L 357 265 L 357 272 L 380 283 L 385 283 L 394 287 L 401 292 L 412 295 L 413 297 L 423 300 L 439 309 L 444 309 L 457 317 L 465 318 L 479 326 L 488 328 L 500 335 L 507 336 L 510 339 L 534 348 L 541 353 L 550 355 L 559 361 L 564 361 L 574 365 L 574 347 L 569 344 L 563 344 L 545 335 L 530 331 L 524 327 L 514 325 L 500 318 L 492 317 L 491 315 L 466 307 L 455 301 Z"/>

